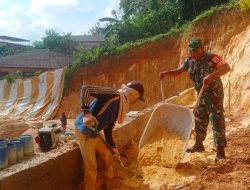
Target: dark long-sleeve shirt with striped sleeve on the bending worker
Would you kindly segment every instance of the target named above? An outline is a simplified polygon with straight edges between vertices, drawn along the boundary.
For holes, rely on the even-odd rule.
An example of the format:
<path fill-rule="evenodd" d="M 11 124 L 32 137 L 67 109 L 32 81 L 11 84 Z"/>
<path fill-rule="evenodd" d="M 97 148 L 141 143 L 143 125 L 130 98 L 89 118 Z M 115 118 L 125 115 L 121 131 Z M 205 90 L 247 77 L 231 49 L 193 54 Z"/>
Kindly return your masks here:
<path fill-rule="evenodd" d="M 98 131 L 104 130 L 105 139 L 111 147 L 115 146 L 112 130 L 118 117 L 119 99 L 113 101 L 104 112 L 99 115 L 98 113 L 109 99 L 116 96 L 119 96 L 119 92 L 112 88 L 95 86 L 82 86 L 81 88 L 82 109 L 89 109 L 90 113 L 96 117 L 99 122 L 97 129 Z M 91 97 L 95 98 L 92 102 L 90 102 Z M 89 137 L 96 137 L 95 132 L 83 124 L 83 116 L 84 114 L 81 113 L 75 121 L 78 130 Z"/>

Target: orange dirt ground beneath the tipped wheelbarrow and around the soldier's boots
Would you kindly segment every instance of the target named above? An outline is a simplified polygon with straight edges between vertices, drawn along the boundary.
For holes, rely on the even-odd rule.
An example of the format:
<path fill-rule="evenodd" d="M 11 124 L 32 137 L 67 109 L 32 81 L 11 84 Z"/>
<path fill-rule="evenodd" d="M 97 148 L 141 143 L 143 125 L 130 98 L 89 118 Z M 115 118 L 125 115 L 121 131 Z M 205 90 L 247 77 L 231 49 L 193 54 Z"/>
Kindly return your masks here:
<path fill-rule="evenodd" d="M 214 163 L 211 126 L 204 143 L 206 151 L 186 154 L 182 163 L 174 168 L 143 166 L 139 164 L 137 140 L 121 150 L 122 161 L 127 166 L 115 165 L 115 178 L 106 181 L 110 190 L 165 190 L 165 189 L 250 189 L 250 119 L 239 114 L 226 119 L 228 146 L 227 159 Z M 191 139 L 189 146 L 193 144 Z"/>

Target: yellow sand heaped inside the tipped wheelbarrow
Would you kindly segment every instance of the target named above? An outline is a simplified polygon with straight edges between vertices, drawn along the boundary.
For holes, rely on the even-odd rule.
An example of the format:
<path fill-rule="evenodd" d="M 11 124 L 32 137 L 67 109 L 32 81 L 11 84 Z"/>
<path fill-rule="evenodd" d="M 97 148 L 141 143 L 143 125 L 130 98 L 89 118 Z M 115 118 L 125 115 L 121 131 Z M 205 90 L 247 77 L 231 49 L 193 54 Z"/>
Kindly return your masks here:
<path fill-rule="evenodd" d="M 181 161 L 185 141 L 177 133 L 159 128 L 138 155 L 140 166 L 173 167 Z"/>

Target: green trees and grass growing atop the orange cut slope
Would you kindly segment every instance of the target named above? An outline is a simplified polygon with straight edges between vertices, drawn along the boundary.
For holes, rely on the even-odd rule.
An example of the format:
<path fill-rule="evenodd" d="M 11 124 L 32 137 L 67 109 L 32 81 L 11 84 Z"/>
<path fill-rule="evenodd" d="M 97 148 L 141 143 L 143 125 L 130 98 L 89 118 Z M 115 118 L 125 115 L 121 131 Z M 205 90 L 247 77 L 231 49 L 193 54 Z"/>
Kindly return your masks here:
<path fill-rule="evenodd" d="M 105 29 L 109 29 L 110 35 L 106 35 L 106 41 L 100 47 L 76 53 L 74 64 L 66 71 L 65 88 L 79 67 L 95 63 L 100 57 L 120 54 L 186 31 L 198 19 L 211 15 L 215 10 L 236 6 L 232 1 L 239 0 L 120 0 L 122 16 L 113 11 L 112 17 L 100 19 L 105 25 L 98 22 L 90 29 L 89 34 L 93 35 L 103 34 Z M 229 4 L 216 7 L 227 2 Z"/>

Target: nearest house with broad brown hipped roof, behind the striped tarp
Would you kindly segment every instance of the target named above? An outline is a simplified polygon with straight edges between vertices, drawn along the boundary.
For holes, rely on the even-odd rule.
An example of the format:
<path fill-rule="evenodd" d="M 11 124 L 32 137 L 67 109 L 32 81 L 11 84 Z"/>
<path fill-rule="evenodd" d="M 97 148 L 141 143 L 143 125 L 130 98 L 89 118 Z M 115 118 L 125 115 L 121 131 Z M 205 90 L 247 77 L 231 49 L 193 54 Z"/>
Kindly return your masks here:
<path fill-rule="evenodd" d="M 72 62 L 70 55 L 48 49 L 33 49 L 0 58 L 0 77 L 16 71 L 22 71 L 24 76 L 32 76 L 36 72 L 66 67 Z"/>

